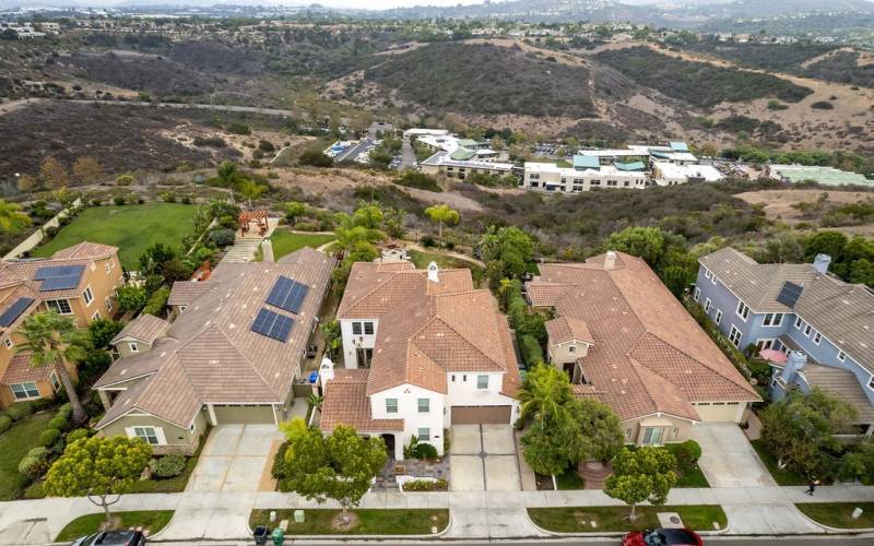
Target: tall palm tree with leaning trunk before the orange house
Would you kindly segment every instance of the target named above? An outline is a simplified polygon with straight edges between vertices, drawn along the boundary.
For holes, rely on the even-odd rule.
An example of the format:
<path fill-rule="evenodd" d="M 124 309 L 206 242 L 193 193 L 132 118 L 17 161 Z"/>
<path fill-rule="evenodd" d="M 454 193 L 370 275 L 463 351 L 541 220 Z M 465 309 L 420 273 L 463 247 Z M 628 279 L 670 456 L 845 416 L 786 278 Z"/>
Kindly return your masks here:
<path fill-rule="evenodd" d="M 87 415 L 75 392 L 67 364 L 85 358 L 87 332 L 76 329 L 73 319 L 61 317 L 57 311 L 46 311 L 24 319 L 15 333 L 25 340 L 15 346 L 15 354 L 29 353 L 33 368 L 51 366 L 70 399 L 73 422 L 76 425 L 85 423 Z"/>

